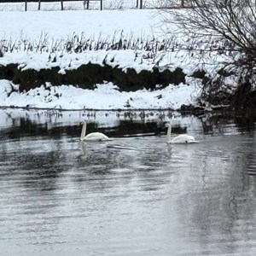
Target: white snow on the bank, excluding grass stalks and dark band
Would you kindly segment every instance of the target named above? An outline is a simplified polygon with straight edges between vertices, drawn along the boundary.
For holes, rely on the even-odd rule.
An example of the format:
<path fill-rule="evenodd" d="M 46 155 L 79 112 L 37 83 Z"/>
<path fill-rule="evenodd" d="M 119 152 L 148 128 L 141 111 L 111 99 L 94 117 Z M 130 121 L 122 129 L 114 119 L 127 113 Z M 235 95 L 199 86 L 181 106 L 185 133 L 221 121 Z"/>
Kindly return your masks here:
<path fill-rule="evenodd" d="M 0 80 L 0 106 L 20 108 L 55 108 L 55 109 L 172 109 L 177 110 L 183 104 L 195 104 L 200 95 L 201 83 L 197 79 L 189 79 L 189 75 L 199 69 L 200 63 L 196 56 L 189 56 L 184 50 L 169 52 L 153 51 L 149 58 L 143 47 L 127 50 L 85 50 L 81 53 L 63 52 L 53 46 L 67 42 L 67 38 L 90 38 L 96 42 L 98 38 L 143 38 L 144 41 L 163 40 L 165 34 L 159 26 L 160 16 L 154 9 L 121 9 L 121 10 L 66 10 L 66 11 L 3 11 L 0 15 L 0 42 L 11 42 L 16 47 L 12 52 L 4 52 L 0 65 L 19 64 L 21 70 L 32 68 L 60 67 L 60 73 L 77 68 L 86 63 L 108 65 L 122 68 L 134 68 L 137 73 L 152 70 L 155 65 L 160 69 L 183 68 L 187 73 L 185 84 L 169 84 L 160 90 L 138 90 L 136 92 L 120 92 L 116 84 L 95 84 L 94 90 L 83 90 L 75 84 L 46 86 L 42 84 L 24 92 L 12 92 L 11 82 Z M 84 39 L 84 40 L 85 40 Z M 47 50 L 24 50 L 27 42 L 34 45 L 46 42 Z M 216 63 L 213 56 L 208 63 L 209 70 Z M 55 58 L 55 61 L 52 61 Z M 218 57 L 220 58 L 220 57 Z M 114 60 L 114 61 L 111 61 Z M 212 62 L 211 62 L 212 61 Z M 158 63 L 158 64 L 156 64 Z M 14 86 L 14 84 L 12 84 Z M 47 88 L 46 88 L 47 87 Z"/>

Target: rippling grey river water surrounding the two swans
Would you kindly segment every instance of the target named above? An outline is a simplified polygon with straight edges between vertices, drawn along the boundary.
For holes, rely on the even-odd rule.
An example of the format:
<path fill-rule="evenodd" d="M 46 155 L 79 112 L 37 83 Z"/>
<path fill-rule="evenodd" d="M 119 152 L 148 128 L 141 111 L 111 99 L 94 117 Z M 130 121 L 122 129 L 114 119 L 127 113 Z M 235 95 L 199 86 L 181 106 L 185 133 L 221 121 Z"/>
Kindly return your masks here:
<path fill-rule="evenodd" d="M 170 146 L 124 122 L 104 129 L 134 150 L 81 143 L 61 119 L 1 126 L 1 255 L 255 255 L 254 123 L 174 127 L 200 143 Z"/>

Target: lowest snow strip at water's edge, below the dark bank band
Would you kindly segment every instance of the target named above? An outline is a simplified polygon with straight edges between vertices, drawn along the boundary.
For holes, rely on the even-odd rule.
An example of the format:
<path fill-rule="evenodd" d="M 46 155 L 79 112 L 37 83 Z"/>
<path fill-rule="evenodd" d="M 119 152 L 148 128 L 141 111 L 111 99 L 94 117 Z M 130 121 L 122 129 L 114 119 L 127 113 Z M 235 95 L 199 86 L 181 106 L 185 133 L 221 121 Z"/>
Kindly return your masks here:
<path fill-rule="evenodd" d="M 95 90 L 83 90 L 73 85 L 60 85 L 13 92 L 9 81 L 0 80 L 0 105 L 2 107 L 75 109 L 172 109 L 195 102 L 200 88 L 196 85 L 169 85 L 162 90 L 119 92 L 112 83 L 96 84 Z"/>

